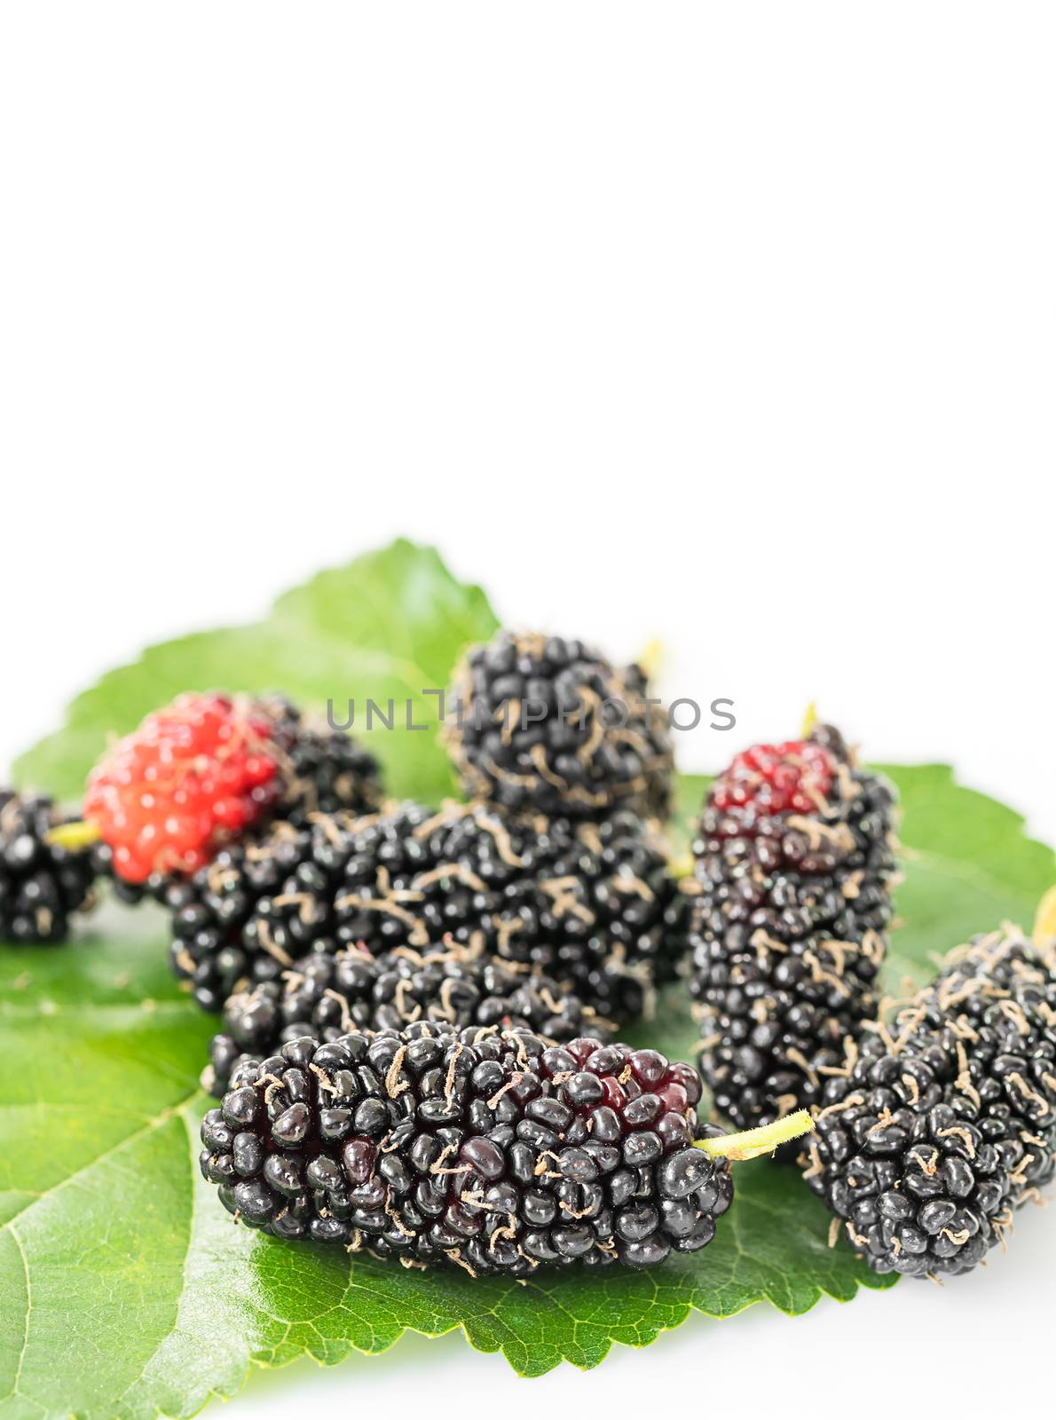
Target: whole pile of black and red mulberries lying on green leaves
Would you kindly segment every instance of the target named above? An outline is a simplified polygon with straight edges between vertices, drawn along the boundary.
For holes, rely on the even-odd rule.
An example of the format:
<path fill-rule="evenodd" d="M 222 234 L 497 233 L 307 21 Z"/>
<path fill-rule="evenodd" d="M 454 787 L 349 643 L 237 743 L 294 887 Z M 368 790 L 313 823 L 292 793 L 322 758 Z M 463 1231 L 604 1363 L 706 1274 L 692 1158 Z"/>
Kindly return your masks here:
<path fill-rule="evenodd" d="M 639 667 L 500 632 L 451 713 L 440 809 L 383 802 L 281 696 L 220 693 L 109 750 L 79 822 L 0 792 L 1 936 L 60 940 L 99 875 L 167 909 L 223 1012 L 202 1172 L 234 1217 L 474 1277 L 643 1267 L 813 1127 L 801 1167 L 873 1268 L 978 1264 L 1056 1173 L 1056 933 L 977 939 L 887 1018 L 894 792 L 839 731 L 738 754 L 677 883 Z M 612 1042 L 680 973 L 700 1074 Z M 705 1086 L 745 1132 L 701 1123 Z"/>

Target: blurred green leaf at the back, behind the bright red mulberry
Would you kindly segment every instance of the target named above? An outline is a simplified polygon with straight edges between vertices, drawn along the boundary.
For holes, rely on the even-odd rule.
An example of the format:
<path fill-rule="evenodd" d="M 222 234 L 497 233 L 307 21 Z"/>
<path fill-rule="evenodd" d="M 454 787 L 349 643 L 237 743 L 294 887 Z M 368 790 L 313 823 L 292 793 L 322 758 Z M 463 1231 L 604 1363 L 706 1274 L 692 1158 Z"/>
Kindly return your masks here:
<path fill-rule="evenodd" d="M 436 744 L 437 697 L 423 692 L 446 689 L 463 648 L 487 640 L 495 626 L 478 586 L 457 582 L 433 548 L 400 538 L 287 592 L 267 621 L 150 646 L 78 696 L 65 727 L 17 760 L 14 774 L 77 801 L 108 738 L 180 692 L 284 690 L 317 710 L 332 700 L 339 724 L 355 700 L 356 734 L 368 697 L 386 716 L 393 701 L 396 727 L 406 726 L 410 699 L 412 723 L 426 728 L 386 731 L 375 716 L 366 737 L 390 794 L 439 802 L 453 780 Z"/>

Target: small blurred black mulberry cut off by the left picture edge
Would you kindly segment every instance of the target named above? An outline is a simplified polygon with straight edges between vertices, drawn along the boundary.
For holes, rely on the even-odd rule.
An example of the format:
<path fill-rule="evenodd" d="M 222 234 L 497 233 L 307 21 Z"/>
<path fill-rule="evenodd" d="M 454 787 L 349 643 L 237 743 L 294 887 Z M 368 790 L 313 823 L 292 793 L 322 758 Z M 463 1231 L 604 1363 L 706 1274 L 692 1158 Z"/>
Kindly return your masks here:
<path fill-rule="evenodd" d="M 65 822 L 45 794 L 0 790 L 0 941 L 62 941 L 92 906 L 91 855 L 51 841 Z"/>

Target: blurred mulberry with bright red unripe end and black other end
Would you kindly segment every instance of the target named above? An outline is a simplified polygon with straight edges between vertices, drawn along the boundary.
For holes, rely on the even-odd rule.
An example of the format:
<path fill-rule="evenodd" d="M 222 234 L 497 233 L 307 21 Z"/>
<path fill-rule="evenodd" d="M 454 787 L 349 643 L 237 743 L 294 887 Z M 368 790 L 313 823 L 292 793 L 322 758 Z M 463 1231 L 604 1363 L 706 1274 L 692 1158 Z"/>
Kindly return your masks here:
<path fill-rule="evenodd" d="M 378 763 L 346 734 L 305 720 L 281 696 L 180 696 L 92 770 L 84 818 L 97 866 L 135 900 L 203 868 L 271 819 L 369 812 Z"/>

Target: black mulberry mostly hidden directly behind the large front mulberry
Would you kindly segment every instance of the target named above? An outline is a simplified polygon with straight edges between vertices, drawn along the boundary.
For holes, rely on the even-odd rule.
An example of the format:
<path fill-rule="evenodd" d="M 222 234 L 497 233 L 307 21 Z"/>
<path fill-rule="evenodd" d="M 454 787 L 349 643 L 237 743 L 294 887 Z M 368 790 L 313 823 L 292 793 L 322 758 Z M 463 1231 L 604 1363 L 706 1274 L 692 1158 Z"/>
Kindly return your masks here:
<path fill-rule="evenodd" d="M 532 1031 L 555 1044 L 610 1035 L 610 1024 L 556 981 L 471 947 L 397 947 L 380 957 L 362 947 L 312 951 L 280 980 L 227 1000 L 203 1083 L 220 1098 L 246 1055 L 273 1055 L 304 1035 L 328 1044 L 349 1031 L 406 1030 L 419 1021 Z"/>

